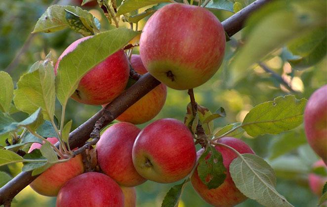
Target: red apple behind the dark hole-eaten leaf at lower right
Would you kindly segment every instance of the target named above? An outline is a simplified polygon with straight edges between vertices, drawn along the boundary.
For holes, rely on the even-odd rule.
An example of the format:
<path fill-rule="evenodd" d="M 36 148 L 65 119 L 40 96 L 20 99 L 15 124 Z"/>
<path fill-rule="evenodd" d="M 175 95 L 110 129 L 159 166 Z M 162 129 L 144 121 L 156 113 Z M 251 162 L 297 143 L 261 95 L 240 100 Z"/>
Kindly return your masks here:
<path fill-rule="evenodd" d="M 241 154 L 254 154 L 253 150 L 244 141 L 237 138 L 224 137 L 218 139 L 217 142 L 231 146 Z M 247 199 L 235 186 L 231 174 L 229 173 L 229 165 L 235 158 L 237 158 L 237 154 L 231 149 L 220 145 L 216 145 L 215 149 L 222 154 L 223 164 L 227 169 L 227 177 L 225 181 L 218 188 L 209 190 L 201 181 L 198 175 L 198 169 L 196 169 L 191 176 L 191 183 L 198 195 L 208 204 L 214 207 L 234 207 Z M 204 149 L 198 151 L 197 159 L 200 158 L 203 152 Z"/>

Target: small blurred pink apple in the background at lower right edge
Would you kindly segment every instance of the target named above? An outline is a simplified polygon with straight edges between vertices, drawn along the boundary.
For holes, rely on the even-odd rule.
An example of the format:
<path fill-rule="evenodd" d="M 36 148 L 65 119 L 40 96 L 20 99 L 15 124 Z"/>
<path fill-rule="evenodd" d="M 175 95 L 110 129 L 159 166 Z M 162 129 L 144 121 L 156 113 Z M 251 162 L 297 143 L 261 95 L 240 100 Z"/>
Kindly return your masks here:
<path fill-rule="evenodd" d="M 327 170 L 327 167 L 323 160 L 318 160 L 312 165 L 313 169 L 319 167 L 324 167 Z M 309 173 L 308 178 L 311 192 L 320 198 L 323 192 L 324 185 L 327 182 L 327 177 L 316 173 Z"/>

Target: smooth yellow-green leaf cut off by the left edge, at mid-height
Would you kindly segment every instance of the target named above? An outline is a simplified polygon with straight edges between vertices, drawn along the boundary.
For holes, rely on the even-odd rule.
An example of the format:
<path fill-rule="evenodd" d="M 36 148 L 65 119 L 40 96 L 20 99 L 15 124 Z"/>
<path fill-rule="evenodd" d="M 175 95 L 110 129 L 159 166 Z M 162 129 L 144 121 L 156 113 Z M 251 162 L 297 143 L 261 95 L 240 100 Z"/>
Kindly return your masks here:
<path fill-rule="evenodd" d="M 8 73 L 5 71 L 0 71 L 0 111 L 9 112 L 11 101 L 13 98 L 14 84 Z"/>

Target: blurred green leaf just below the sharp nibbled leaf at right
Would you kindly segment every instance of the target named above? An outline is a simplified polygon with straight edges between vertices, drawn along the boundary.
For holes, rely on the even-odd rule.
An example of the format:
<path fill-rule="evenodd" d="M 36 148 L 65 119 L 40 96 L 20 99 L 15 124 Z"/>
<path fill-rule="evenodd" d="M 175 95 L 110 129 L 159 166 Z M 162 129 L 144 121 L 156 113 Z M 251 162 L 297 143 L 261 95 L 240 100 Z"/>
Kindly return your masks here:
<path fill-rule="evenodd" d="M 275 138 L 271 147 L 269 148 L 269 160 L 273 160 L 305 143 L 307 143 L 307 139 L 304 132 L 298 133 L 290 131 L 284 133 L 279 138 Z"/>

